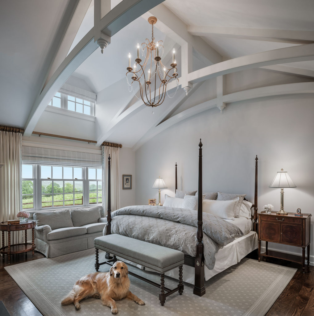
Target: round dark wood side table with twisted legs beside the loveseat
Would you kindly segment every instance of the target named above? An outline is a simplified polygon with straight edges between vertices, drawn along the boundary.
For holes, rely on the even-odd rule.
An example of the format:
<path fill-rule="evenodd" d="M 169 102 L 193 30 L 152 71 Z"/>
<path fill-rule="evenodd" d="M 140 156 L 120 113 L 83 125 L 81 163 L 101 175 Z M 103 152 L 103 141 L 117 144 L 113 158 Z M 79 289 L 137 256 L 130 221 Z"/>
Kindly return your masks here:
<path fill-rule="evenodd" d="M 34 258 L 34 249 L 36 245 L 34 244 L 34 228 L 36 226 L 36 221 L 29 220 L 27 223 L 23 224 L 9 224 L 8 222 L 0 223 L 0 230 L 2 231 L 2 248 L 0 248 L 0 253 L 8 256 L 8 263 L 10 263 L 11 254 L 22 253 L 25 252 L 27 254 L 28 251 L 32 251 Z M 32 243 L 27 243 L 27 229 L 32 229 Z M 11 232 L 25 230 L 25 243 L 24 244 L 14 244 L 11 245 Z M 4 232 L 8 232 L 8 246 L 4 246 Z"/>

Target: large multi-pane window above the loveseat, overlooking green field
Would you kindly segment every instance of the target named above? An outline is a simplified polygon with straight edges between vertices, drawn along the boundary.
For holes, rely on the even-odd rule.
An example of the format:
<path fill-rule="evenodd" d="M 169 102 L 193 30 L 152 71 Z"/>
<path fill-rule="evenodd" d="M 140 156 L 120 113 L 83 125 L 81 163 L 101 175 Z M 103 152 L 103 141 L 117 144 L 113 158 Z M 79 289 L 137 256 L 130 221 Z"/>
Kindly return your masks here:
<path fill-rule="evenodd" d="M 101 197 L 101 168 L 22 164 L 23 209 L 88 206 L 100 204 Z"/>

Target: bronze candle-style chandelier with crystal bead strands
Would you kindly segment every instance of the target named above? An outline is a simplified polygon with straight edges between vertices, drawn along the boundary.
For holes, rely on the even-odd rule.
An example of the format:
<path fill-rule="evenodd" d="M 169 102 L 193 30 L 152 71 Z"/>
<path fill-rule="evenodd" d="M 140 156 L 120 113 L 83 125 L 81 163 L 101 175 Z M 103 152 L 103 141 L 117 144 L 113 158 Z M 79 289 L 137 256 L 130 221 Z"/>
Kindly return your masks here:
<path fill-rule="evenodd" d="M 137 58 L 135 59 L 135 64 L 132 68 L 131 54 L 129 53 L 129 67 L 127 67 L 128 72 L 126 73 L 127 83 L 130 87 L 129 91 L 131 92 L 133 90 L 135 92 L 133 83 L 138 82 L 140 95 L 144 104 L 152 108 L 159 106 L 165 100 L 167 84 L 171 80 L 177 80 L 177 90 L 179 87 L 177 63 L 174 56 L 175 50 L 173 49 L 172 51 L 171 68 L 167 68 L 161 62 L 164 46 L 162 40 L 155 42 L 154 24 L 156 22 L 156 17 L 150 16 L 148 18 L 148 23 L 152 25 L 152 40 L 149 41 L 146 39 L 141 45 L 142 56 L 145 57 L 143 64 L 141 64 L 142 59 L 140 58 L 140 45 L 137 44 Z M 171 70 L 173 73 L 171 73 Z M 130 76 L 132 79 L 131 83 L 128 78 Z M 152 113 L 154 114 L 154 110 Z"/>

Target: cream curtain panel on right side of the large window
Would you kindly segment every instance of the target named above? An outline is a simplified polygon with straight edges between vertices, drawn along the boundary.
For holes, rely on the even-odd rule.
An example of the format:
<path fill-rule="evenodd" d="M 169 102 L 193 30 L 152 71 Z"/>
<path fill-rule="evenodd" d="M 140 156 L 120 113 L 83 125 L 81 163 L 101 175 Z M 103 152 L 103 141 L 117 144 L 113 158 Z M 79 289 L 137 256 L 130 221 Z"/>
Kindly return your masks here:
<path fill-rule="evenodd" d="M 119 173 L 119 148 L 102 146 L 102 208 L 103 216 L 107 215 L 108 197 L 108 156 L 111 157 L 111 210 L 120 208 L 120 173 Z"/>

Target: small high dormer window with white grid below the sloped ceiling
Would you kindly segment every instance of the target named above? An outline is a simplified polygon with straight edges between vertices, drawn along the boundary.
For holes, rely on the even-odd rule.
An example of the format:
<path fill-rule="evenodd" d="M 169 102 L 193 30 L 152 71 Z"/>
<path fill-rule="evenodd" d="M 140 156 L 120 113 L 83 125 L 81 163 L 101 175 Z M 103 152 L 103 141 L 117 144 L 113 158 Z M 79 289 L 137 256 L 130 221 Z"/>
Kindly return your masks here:
<path fill-rule="evenodd" d="M 95 112 L 95 102 L 62 92 L 57 92 L 48 105 L 91 116 Z"/>

